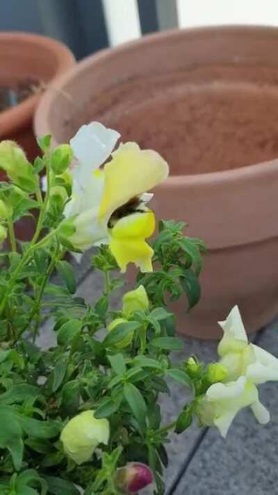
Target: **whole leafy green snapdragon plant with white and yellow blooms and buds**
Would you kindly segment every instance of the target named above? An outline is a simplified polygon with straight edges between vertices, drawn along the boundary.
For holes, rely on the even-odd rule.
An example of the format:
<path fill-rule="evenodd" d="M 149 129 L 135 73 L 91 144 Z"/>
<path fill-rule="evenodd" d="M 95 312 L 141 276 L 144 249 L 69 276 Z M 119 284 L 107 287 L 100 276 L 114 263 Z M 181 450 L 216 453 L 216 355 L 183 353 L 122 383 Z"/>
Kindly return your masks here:
<path fill-rule="evenodd" d="M 163 494 L 171 432 L 183 434 L 197 421 L 225 436 L 247 406 L 260 423 L 269 421 L 257 385 L 278 379 L 278 361 L 248 343 L 237 306 L 220 323 L 219 363 L 195 356 L 173 363 L 183 340 L 167 301 L 183 298 L 185 311 L 197 304 L 205 246 L 169 220 L 158 222 L 147 243 L 155 228 L 149 191 L 168 167 L 136 143 L 113 151 L 119 137 L 99 123 L 55 149 L 44 136 L 33 164 L 16 143 L 0 143 L 8 178 L 0 184 L 3 495 L 130 494 L 150 484 Z M 33 238 L 19 242 L 15 223 L 30 214 Z M 81 258 L 92 246 L 92 269 L 104 285 L 88 304 L 76 296 L 65 254 Z M 138 268 L 134 288 L 112 309 L 129 264 Z M 49 315 L 56 345 L 42 349 L 38 335 Z M 183 409 L 165 425 L 159 400 L 172 382 L 191 398 L 185 394 Z"/>

